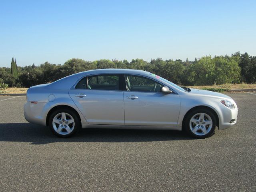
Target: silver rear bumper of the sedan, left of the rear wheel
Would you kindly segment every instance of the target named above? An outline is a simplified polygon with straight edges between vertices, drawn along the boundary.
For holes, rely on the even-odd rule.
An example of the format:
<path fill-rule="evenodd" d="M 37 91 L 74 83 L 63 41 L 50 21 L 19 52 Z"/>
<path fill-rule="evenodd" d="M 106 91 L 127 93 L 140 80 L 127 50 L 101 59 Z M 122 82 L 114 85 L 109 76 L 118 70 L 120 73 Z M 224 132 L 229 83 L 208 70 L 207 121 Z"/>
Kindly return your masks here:
<path fill-rule="evenodd" d="M 25 119 L 34 124 L 40 124 L 46 126 L 46 114 L 47 108 L 49 108 L 47 103 L 38 102 L 33 104 L 31 102 L 26 102 L 24 104 L 24 116 Z"/>

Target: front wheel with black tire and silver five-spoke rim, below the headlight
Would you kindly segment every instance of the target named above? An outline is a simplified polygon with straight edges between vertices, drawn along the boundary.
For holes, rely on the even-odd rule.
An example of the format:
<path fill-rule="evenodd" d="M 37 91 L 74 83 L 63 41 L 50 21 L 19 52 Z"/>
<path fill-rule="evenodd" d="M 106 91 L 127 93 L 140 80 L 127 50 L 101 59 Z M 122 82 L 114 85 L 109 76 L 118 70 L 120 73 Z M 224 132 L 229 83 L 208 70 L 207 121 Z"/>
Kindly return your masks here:
<path fill-rule="evenodd" d="M 194 138 L 207 138 L 214 134 L 216 117 L 208 109 L 196 109 L 186 116 L 184 128 Z"/>

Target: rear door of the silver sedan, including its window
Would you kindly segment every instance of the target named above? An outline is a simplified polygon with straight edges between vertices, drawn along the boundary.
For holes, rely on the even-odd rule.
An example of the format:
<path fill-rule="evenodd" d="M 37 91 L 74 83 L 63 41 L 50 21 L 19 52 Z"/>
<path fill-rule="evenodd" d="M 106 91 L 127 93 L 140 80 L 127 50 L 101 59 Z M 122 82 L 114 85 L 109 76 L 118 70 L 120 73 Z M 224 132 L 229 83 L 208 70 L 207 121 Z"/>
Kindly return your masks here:
<path fill-rule="evenodd" d="M 89 124 L 124 125 L 124 98 L 118 74 L 82 78 L 69 91 Z"/>

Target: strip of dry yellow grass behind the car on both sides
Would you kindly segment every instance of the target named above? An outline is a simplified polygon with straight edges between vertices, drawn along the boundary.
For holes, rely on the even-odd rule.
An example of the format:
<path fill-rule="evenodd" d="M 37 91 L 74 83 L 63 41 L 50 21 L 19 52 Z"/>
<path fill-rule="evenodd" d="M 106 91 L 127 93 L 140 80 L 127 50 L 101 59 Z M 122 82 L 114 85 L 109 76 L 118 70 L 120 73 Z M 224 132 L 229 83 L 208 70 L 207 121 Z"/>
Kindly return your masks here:
<path fill-rule="evenodd" d="M 190 88 L 203 89 L 203 88 L 222 88 L 222 89 L 256 89 L 256 84 L 223 84 L 223 85 L 209 85 L 209 86 L 190 86 Z M 26 93 L 28 88 L 16 88 L 11 87 L 4 90 L 0 90 L 0 94 L 15 94 Z"/>

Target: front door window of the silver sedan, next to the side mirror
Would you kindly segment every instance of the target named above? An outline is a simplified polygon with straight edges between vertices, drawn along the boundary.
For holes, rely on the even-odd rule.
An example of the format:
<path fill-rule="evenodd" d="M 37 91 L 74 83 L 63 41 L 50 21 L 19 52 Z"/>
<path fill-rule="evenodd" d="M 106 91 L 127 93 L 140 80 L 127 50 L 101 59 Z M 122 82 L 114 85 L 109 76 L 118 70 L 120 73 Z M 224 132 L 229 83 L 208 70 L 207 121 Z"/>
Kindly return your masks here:
<path fill-rule="evenodd" d="M 128 91 L 139 91 L 139 92 L 160 92 L 162 85 L 152 79 L 126 75 L 126 88 Z"/>

